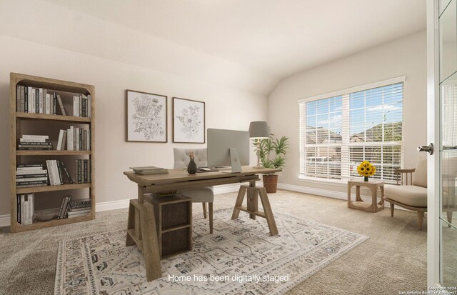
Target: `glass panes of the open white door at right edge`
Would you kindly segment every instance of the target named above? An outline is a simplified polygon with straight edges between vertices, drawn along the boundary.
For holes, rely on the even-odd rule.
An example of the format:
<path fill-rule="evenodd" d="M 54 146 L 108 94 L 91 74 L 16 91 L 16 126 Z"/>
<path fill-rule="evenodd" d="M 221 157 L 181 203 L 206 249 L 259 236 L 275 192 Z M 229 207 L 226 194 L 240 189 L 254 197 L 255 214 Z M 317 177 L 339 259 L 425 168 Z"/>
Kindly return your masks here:
<path fill-rule="evenodd" d="M 457 286 L 457 0 L 438 3 L 440 137 L 440 281 Z M 455 212 L 455 213 L 454 213 Z"/>

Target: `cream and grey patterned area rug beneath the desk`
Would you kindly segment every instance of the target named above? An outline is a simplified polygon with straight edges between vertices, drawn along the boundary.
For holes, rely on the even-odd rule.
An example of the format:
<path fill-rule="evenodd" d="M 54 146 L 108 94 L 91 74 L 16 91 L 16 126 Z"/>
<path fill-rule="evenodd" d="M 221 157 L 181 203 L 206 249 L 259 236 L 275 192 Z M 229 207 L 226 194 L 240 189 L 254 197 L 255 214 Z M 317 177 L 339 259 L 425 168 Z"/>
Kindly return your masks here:
<path fill-rule="evenodd" d="M 283 294 L 368 239 L 277 213 L 270 236 L 265 219 L 231 220 L 232 210 L 214 212 L 214 234 L 194 216 L 194 249 L 162 259 L 151 282 L 124 230 L 60 241 L 54 294 Z"/>

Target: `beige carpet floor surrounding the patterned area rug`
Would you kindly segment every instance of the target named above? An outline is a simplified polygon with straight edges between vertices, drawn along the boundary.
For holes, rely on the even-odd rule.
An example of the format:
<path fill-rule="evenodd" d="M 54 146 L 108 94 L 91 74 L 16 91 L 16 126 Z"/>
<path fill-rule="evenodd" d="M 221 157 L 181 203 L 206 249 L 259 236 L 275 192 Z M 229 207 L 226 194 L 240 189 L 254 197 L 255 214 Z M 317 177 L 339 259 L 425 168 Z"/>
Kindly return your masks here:
<path fill-rule="evenodd" d="M 388 208 L 376 214 L 347 208 L 347 201 L 292 191 L 270 194 L 273 212 L 317 221 L 370 239 L 287 294 L 398 294 L 426 290 L 426 230 L 416 214 Z M 236 193 L 215 196 L 214 209 L 233 206 Z M 194 204 L 201 212 L 201 204 Z M 241 212 L 240 214 L 243 214 Z M 127 210 L 97 214 L 94 221 L 25 233 L 0 234 L 0 293 L 53 294 L 61 239 L 125 229 Z M 265 221 L 266 222 L 266 221 Z"/>

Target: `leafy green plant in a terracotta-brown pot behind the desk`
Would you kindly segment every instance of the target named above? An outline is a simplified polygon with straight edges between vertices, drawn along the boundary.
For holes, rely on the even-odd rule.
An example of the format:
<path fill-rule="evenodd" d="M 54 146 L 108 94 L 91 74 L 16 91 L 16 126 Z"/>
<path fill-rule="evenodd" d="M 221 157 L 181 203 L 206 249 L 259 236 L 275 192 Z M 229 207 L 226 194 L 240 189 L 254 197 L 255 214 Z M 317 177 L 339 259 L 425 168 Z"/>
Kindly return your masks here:
<path fill-rule="evenodd" d="M 257 146 L 257 142 L 260 145 Z M 269 139 L 254 139 L 253 145 L 256 152 L 260 154 L 260 162 L 265 168 L 283 169 L 286 164 L 286 151 L 288 149 L 288 137 L 282 136 L 280 139 L 270 133 Z M 258 149 L 258 151 L 257 151 Z M 276 193 L 278 186 L 277 174 L 263 174 L 263 187 L 268 194 Z"/>

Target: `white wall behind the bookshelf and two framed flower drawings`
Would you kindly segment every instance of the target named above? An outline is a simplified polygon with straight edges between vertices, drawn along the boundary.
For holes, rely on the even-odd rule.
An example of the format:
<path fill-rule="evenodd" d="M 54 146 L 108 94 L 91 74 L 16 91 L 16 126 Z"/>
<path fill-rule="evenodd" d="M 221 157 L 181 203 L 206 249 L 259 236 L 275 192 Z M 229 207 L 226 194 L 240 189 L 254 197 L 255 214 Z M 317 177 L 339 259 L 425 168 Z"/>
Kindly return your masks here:
<path fill-rule="evenodd" d="M 19 15 L 21 7 L 25 11 L 34 11 L 31 23 L 27 18 L 12 17 Z M 5 8 L 9 9 L 8 13 Z M 122 174 L 129 170 L 129 166 L 172 168 L 174 146 L 206 146 L 171 142 L 173 96 L 205 101 L 207 128 L 247 130 L 250 121 L 266 119 L 266 95 L 261 94 L 265 89 L 253 78 L 255 73 L 241 66 L 197 54 L 182 46 L 164 44 L 150 36 L 139 36 L 134 31 L 81 16 L 47 2 L 0 1 L 0 11 L 0 139 L 3 139 L 0 143 L 0 216 L 9 214 L 10 210 L 10 72 L 76 81 L 96 87 L 97 203 L 136 196 L 136 186 Z M 39 19 L 39 16 L 43 18 Z M 56 24 L 51 20 L 54 17 Z M 82 23 L 81 18 L 84 19 Z M 93 27 L 86 26 L 86 21 Z M 61 27 L 65 29 L 59 34 Z M 99 39 L 94 34 L 98 34 Z M 127 35 L 128 44 L 111 42 Z M 77 44 L 75 40 L 81 44 L 71 49 L 69 44 Z M 154 46 L 158 44 L 161 46 Z M 132 52 L 134 49 L 138 51 Z M 157 61 L 157 56 L 161 61 Z M 144 66 L 141 66 L 142 59 Z M 220 71 L 220 77 L 217 77 L 216 70 Z M 242 83 L 238 81 L 240 79 Z M 249 81 L 256 86 L 249 88 Z M 169 96 L 168 143 L 126 141 L 126 89 Z M 252 154 L 251 162 L 254 158 Z"/>

